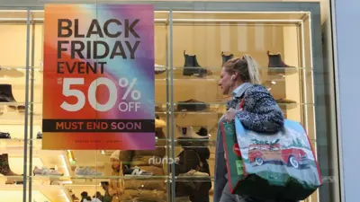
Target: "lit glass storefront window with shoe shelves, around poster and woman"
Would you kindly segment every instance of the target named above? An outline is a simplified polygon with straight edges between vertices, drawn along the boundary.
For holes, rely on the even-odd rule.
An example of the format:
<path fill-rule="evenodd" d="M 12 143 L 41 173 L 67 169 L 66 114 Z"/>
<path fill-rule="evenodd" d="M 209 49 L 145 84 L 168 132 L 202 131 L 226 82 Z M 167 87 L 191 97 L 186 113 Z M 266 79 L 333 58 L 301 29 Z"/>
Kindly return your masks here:
<path fill-rule="evenodd" d="M 326 110 L 335 97 L 326 77 L 332 69 L 323 61 L 320 3 L 150 4 L 155 6 L 156 150 L 120 151 L 130 169 L 125 177 L 112 170 L 111 157 L 119 151 L 41 148 L 42 101 L 51 96 L 42 89 L 44 11 L 0 7 L 4 201 L 69 202 L 85 198 L 85 193 L 91 200 L 97 192 L 106 201 L 107 184 L 112 189 L 122 182 L 120 201 L 184 199 L 179 197 L 189 193 L 178 186 L 189 183 L 208 186 L 201 198 L 212 201 L 218 124 L 230 99 L 218 85 L 221 66 L 244 54 L 257 60 L 262 84 L 284 117 L 301 122 L 308 132 L 324 184 L 305 201 L 339 201 L 338 167 L 329 149 L 337 150 L 336 131 L 329 127 L 336 123 Z M 195 151 L 186 161 L 197 155 L 204 159 L 197 175 L 175 174 L 184 150 Z M 153 175 L 137 176 L 135 166 Z"/>

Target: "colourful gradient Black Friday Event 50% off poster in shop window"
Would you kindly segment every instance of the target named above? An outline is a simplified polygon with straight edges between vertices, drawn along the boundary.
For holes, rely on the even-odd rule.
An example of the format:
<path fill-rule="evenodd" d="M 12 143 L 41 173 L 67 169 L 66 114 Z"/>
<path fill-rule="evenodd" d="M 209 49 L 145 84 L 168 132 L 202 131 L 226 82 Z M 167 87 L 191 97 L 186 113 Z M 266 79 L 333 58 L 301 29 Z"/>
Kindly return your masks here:
<path fill-rule="evenodd" d="M 42 148 L 155 149 L 154 8 L 47 4 Z"/>

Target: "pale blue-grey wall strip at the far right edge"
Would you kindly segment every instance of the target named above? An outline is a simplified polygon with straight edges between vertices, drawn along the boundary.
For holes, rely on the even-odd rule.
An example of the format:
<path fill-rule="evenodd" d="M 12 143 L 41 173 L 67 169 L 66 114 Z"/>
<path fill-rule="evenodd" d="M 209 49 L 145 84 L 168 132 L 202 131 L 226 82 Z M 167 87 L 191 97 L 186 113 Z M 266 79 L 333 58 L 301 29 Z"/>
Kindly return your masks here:
<path fill-rule="evenodd" d="M 360 19 L 359 0 L 333 0 L 335 3 L 338 53 L 339 136 L 342 140 L 343 191 L 346 202 L 357 202 L 360 165 Z"/>

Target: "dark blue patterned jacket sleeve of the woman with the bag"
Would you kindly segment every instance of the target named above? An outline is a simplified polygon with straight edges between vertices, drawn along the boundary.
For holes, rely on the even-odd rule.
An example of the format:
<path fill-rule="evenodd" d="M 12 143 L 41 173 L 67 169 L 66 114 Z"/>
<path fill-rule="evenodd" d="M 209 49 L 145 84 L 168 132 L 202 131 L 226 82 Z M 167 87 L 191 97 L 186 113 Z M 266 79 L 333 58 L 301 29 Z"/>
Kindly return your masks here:
<path fill-rule="evenodd" d="M 243 110 L 235 116 L 247 129 L 257 132 L 277 132 L 284 126 L 284 115 L 275 99 L 262 85 L 253 85 L 243 96 Z M 241 99 L 238 99 L 238 103 Z"/>

